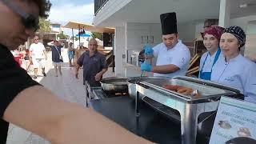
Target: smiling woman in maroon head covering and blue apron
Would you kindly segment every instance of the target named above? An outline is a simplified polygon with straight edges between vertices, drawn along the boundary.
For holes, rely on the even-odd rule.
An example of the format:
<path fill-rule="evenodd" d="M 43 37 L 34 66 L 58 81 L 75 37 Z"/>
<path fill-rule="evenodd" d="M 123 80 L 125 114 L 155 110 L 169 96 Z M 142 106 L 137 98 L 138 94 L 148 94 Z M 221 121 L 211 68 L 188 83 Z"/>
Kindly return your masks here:
<path fill-rule="evenodd" d="M 206 46 L 207 52 L 202 54 L 200 59 L 199 78 L 210 80 L 212 69 L 219 58 L 223 58 L 219 40 L 222 36 L 224 28 L 220 26 L 207 27 L 203 33 L 203 44 Z"/>

